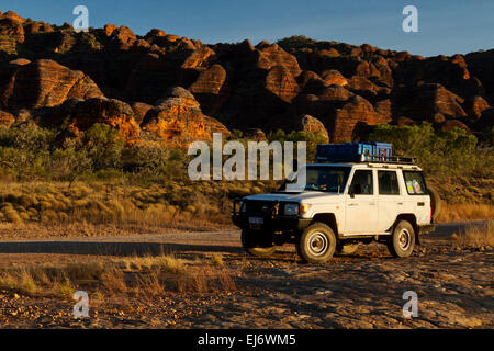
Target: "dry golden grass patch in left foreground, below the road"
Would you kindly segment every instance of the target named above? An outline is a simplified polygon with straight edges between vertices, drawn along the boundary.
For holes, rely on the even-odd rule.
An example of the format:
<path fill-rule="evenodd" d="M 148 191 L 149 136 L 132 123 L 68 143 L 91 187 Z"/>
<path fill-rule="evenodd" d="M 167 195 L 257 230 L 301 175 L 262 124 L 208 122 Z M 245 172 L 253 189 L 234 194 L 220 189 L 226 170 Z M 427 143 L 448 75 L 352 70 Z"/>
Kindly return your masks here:
<path fill-rule="evenodd" d="M 169 292 L 234 291 L 234 275 L 209 262 L 187 262 L 173 256 L 130 257 L 70 264 L 31 264 L 0 271 L 0 288 L 27 295 L 71 298 L 76 290 L 100 296 L 151 298 Z"/>

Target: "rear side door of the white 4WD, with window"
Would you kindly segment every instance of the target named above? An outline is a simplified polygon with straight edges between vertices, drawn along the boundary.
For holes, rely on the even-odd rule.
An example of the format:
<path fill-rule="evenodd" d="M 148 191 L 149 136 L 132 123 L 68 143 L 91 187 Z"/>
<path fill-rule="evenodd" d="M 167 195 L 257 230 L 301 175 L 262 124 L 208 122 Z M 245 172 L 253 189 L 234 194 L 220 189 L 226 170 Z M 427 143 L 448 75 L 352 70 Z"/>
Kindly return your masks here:
<path fill-rule="evenodd" d="M 396 171 L 378 170 L 378 230 L 384 233 L 391 228 L 404 208 Z"/>

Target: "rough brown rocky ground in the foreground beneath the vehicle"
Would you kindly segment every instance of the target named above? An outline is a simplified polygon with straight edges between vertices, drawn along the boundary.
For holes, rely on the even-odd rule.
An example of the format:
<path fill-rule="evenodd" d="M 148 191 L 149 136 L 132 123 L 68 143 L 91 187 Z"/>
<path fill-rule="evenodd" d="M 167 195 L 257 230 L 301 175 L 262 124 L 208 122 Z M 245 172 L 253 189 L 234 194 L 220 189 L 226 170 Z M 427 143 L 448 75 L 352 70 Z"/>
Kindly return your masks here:
<path fill-rule="evenodd" d="M 290 247 L 271 259 L 247 257 L 237 233 L 218 236 L 222 269 L 234 292 L 169 293 L 154 299 L 102 297 L 89 318 L 74 319 L 74 302 L 0 292 L 1 328 L 493 328 L 494 251 L 457 247 L 440 235 L 423 240 L 413 257 L 393 259 L 372 244 L 324 265 L 303 264 Z M 222 239 L 223 238 L 223 239 Z M 183 248 L 182 248 L 183 249 Z M 180 253 L 201 257 L 190 246 Z M 1 252 L 4 252 L 2 246 Z M 11 250 L 14 251 L 14 250 Z M 0 253 L 13 264 L 25 253 Z M 33 257 L 36 254 L 31 254 Z M 40 253 L 37 254 L 40 258 Z M 55 262 L 70 257 L 46 254 Z M 58 258 L 58 259 L 57 259 Z M 96 257 L 94 257 L 96 258 Z M 93 259 L 80 256 L 79 260 Z M 96 258 L 98 259 L 98 258 Z M 101 259 L 101 257 L 100 257 Z M 21 262 L 20 260 L 19 262 Z M 403 317 L 403 293 L 418 296 L 418 317 Z"/>

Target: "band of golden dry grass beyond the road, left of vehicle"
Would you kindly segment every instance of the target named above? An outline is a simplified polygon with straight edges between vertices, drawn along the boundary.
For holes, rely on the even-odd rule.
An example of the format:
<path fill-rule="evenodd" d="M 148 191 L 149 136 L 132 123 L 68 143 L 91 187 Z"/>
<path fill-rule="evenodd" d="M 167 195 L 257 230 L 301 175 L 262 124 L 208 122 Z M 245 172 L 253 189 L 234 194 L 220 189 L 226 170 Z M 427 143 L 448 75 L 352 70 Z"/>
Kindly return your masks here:
<path fill-rule="evenodd" d="M 232 200 L 265 192 L 269 182 L 0 183 L 0 222 L 45 225 L 87 222 L 170 227 L 229 224 Z M 202 226 L 203 226 L 202 225 Z"/>

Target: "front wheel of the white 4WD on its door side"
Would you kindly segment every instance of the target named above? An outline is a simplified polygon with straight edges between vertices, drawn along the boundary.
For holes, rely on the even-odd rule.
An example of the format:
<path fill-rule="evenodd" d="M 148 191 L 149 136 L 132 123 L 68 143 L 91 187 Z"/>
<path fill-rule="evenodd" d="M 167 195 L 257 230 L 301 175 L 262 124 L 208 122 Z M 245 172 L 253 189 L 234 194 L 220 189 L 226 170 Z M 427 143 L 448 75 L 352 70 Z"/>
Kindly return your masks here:
<path fill-rule="evenodd" d="M 299 256 L 307 263 L 326 263 L 335 250 L 335 233 L 324 223 L 314 223 L 305 228 L 296 242 Z"/>

